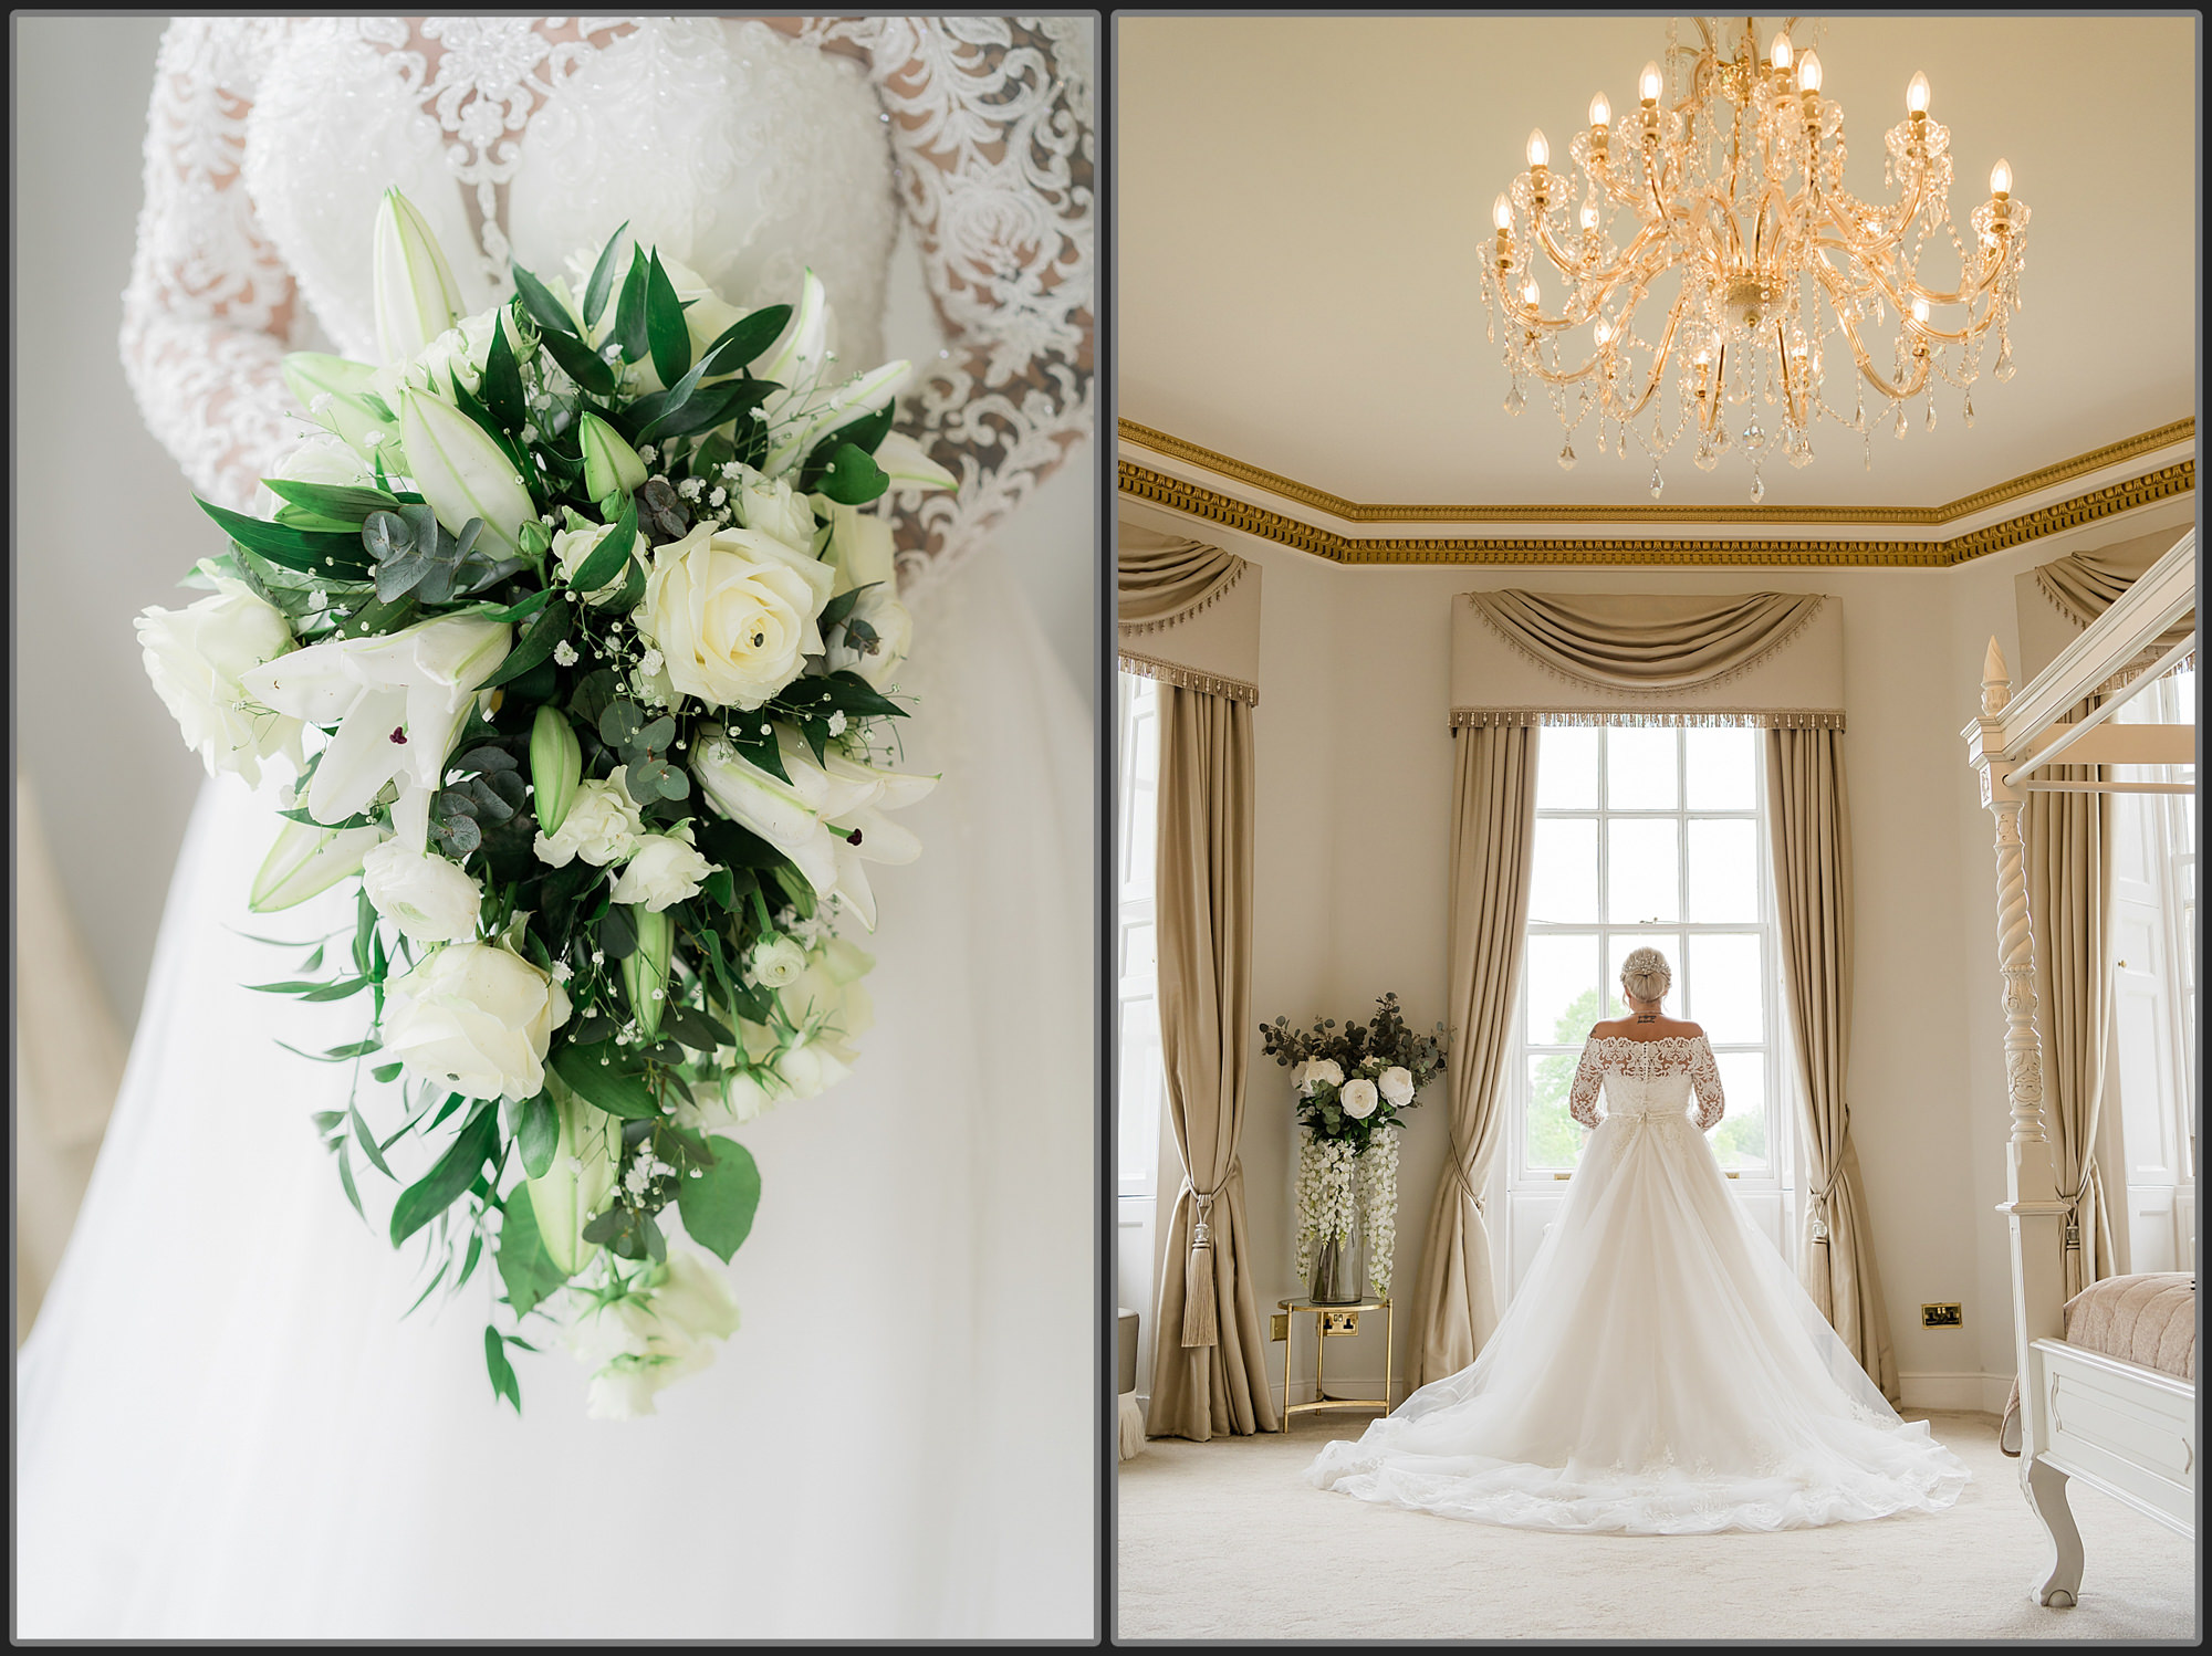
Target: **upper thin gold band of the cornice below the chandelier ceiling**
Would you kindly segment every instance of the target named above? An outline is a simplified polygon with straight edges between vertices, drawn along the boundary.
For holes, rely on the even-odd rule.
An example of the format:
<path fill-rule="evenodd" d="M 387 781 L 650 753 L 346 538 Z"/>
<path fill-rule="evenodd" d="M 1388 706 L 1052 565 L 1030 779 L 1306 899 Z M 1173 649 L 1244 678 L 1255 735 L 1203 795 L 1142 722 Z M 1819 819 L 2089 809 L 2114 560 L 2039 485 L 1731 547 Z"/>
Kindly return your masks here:
<path fill-rule="evenodd" d="M 1137 444 L 1141 449 L 1150 449 L 1152 453 L 1168 455 L 1170 460 L 1181 460 L 1212 471 L 1217 478 L 1230 478 L 1252 489 L 1265 489 L 1272 495 L 1307 506 L 1310 511 L 1327 513 L 1329 517 L 1347 524 L 1867 524 L 1887 528 L 1940 528 L 1942 524 L 1955 524 L 1964 517 L 1993 511 L 2011 500 L 2022 500 L 2044 489 L 2073 482 L 2075 478 L 2086 478 L 2104 471 L 2106 467 L 2126 464 L 2128 460 L 2172 449 L 2174 444 L 2190 442 L 2197 436 L 2194 418 L 2174 420 L 2172 425 L 2161 425 L 2135 438 L 2110 442 L 2101 449 L 2073 455 L 2070 460 L 2059 460 L 2057 464 L 2022 473 L 2020 478 L 2011 478 L 1991 489 L 1962 495 L 1942 506 L 1376 506 L 1332 495 L 1327 489 L 1314 489 L 1312 484 L 1285 478 L 1279 471 L 1267 471 L 1237 460 L 1234 455 L 1203 449 L 1197 442 L 1186 442 L 1183 438 L 1139 425 L 1137 420 L 1117 420 L 1115 425 L 1124 444 Z M 2181 464 L 2190 467 L 2190 475 L 2194 475 L 2194 460 Z M 1126 467 L 1128 462 L 1124 462 L 1124 469 Z M 2170 471 L 2172 467 L 2166 467 L 2161 473 L 2148 475 L 2166 475 Z M 2183 493 L 2188 489 L 2190 484 L 2181 484 L 2181 489 L 2168 489 L 2166 493 Z M 2093 491 L 2090 495 L 2084 495 L 2084 500 L 2090 500 L 2097 493 L 2101 491 Z M 2112 511 L 2124 509 L 2115 506 Z M 2035 533 L 2051 531 L 2044 528 Z M 2028 537 L 2033 539 L 2033 535 Z M 1874 546 L 1876 542 L 1867 544 Z M 2013 539 L 2004 544 L 2017 546 L 2020 542 Z M 1913 542 L 1913 546 L 1924 546 L 1924 542 Z M 1986 551 L 1997 551 L 1997 546 L 1989 546 Z M 1980 553 L 1969 553 L 1969 557 L 1975 555 Z"/>

